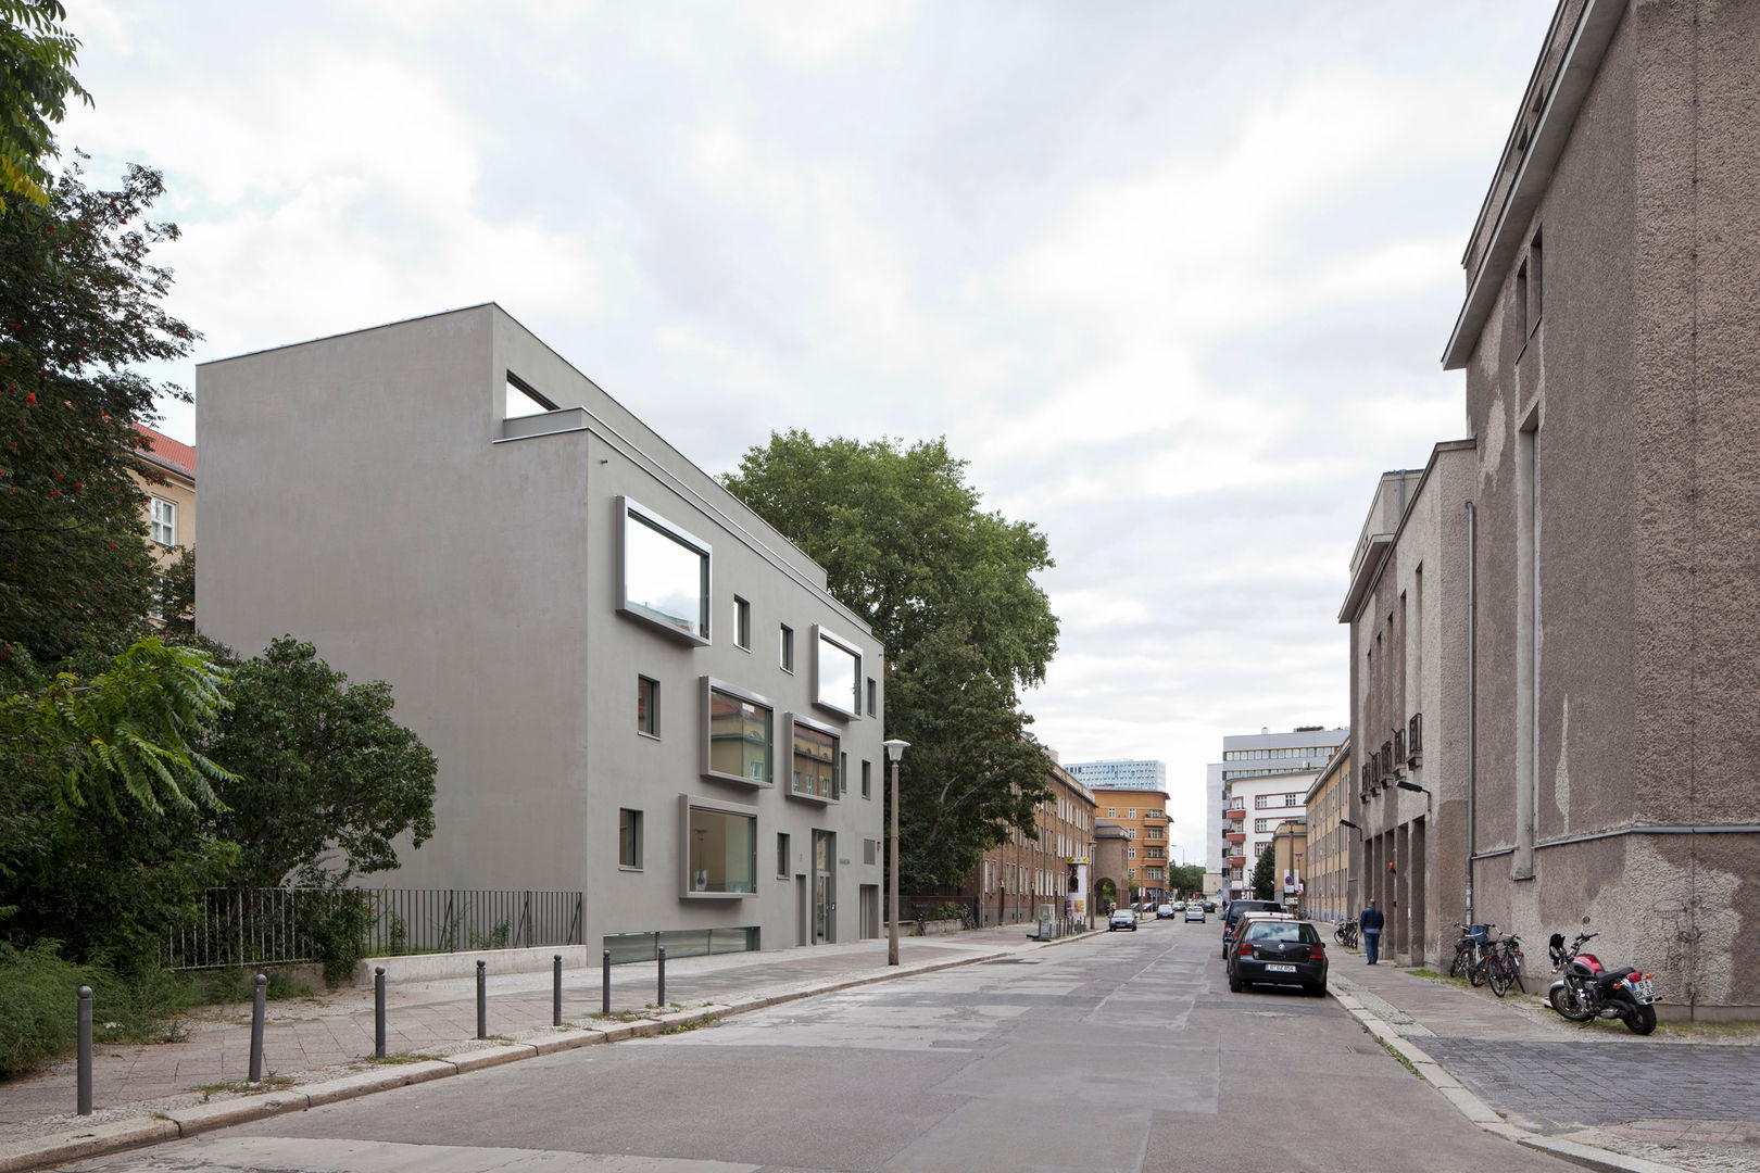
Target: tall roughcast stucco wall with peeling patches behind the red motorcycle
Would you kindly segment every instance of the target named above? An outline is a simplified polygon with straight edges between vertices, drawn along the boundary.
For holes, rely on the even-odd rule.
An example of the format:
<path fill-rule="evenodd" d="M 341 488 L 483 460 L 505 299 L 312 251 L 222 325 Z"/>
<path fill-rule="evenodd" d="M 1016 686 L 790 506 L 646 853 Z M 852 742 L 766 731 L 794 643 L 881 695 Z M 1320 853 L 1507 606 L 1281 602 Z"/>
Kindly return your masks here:
<path fill-rule="evenodd" d="M 1538 317 L 1512 266 L 1466 368 L 1478 849 L 1517 848 L 1478 860 L 1478 916 L 1521 929 L 1529 958 L 1588 918 L 1603 960 L 1654 971 L 1695 1015 L 1760 1011 L 1756 60 L 1760 5 L 1624 11 L 1531 222 L 1508 229 Z"/>

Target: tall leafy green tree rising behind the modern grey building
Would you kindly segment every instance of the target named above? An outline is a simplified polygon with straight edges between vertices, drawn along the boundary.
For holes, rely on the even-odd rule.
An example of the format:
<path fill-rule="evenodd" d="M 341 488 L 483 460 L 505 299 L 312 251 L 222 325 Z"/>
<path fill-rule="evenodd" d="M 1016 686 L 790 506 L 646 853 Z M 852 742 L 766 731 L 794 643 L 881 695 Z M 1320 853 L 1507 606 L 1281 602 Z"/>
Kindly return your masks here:
<path fill-rule="evenodd" d="M 887 651 L 899 770 L 901 885 L 959 885 L 1049 793 L 1051 760 L 1017 689 L 1044 681 L 1058 621 L 1033 573 L 1045 536 L 984 512 L 943 440 L 771 434 L 723 484 L 825 568 Z"/>

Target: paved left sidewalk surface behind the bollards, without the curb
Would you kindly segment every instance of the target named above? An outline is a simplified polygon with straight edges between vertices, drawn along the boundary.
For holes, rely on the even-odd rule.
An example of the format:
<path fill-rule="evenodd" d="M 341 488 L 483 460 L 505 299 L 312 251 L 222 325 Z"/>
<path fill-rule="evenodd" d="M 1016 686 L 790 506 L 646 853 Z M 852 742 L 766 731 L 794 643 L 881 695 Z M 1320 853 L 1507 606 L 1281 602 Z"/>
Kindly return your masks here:
<path fill-rule="evenodd" d="M 963 932 L 947 937 L 912 937 L 901 943 L 899 967 L 885 964 L 885 941 L 827 944 L 776 953 L 723 953 L 669 958 L 665 1006 L 656 1006 L 656 965 L 614 965 L 612 1018 L 600 1018 L 600 969 L 563 973 L 563 1022 L 553 1027 L 553 974 L 493 974 L 488 978 L 488 1039 L 477 1039 L 475 978 L 400 983 L 387 987 L 385 1052 L 405 1060 L 454 1059 L 505 1048 L 507 1043 L 542 1045 L 549 1038 L 583 1032 L 609 1038 L 632 1024 L 688 1024 L 730 1008 L 801 997 L 852 983 L 885 980 L 950 964 L 1042 948 L 1028 939 L 1028 925 Z M 72 1008 L 69 1008 L 72 1013 Z M 97 1025 L 102 1032 L 102 1008 Z M 343 1076 L 378 1071 L 373 1059 L 373 990 L 341 988 L 317 997 L 268 1004 L 264 1027 L 264 1085 L 299 1089 Z M 185 1038 L 151 1046 L 106 1045 L 93 1048 L 93 1113 L 76 1115 L 72 1060 L 25 1080 L 0 1083 L 0 1148 L 14 1141 L 55 1136 L 72 1129 L 153 1118 L 211 1101 L 248 1094 L 250 1004 L 208 1008 L 185 1020 Z M 593 1038 L 591 1041 L 604 1041 Z M 530 1050 L 530 1048 L 528 1048 Z M 415 1064 L 419 1066 L 419 1064 Z M 257 1089 L 260 1094 L 262 1089 Z"/>

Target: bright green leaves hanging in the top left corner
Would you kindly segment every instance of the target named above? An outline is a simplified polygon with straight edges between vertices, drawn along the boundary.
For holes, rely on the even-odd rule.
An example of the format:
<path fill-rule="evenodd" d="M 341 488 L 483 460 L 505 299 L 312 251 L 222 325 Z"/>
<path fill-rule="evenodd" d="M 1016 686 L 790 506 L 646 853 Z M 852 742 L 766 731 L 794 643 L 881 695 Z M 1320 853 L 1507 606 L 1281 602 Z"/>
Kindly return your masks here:
<path fill-rule="evenodd" d="M 55 155 L 55 128 L 67 97 L 92 106 L 74 77 L 79 40 L 62 26 L 60 0 L 0 0 L 0 218 L 23 197 L 49 202 L 44 158 Z"/>

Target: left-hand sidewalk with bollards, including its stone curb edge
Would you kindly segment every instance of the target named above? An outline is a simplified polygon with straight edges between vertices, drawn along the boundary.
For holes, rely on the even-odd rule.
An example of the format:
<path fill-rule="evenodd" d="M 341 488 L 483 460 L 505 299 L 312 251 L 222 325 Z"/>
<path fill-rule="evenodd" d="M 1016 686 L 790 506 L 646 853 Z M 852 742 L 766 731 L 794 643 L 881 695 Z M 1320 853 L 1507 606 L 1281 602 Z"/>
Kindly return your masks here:
<path fill-rule="evenodd" d="M 76 1115 L 72 1060 L 0 1083 L 0 1173 L 1060 944 L 1031 941 L 1030 929 L 1005 925 L 908 937 L 899 943 L 896 967 L 885 964 L 884 939 L 669 958 L 665 1006 L 656 1004 L 653 962 L 614 965 L 611 1018 L 600 1016 L 600 969 L 565 971 L 563 1027 L 551 1025 L 551 973 L 495 974 L 486 981 L 488 1039 L 477 1039 L 475 976 L 387 985 L 387 1062 L 373 1060 L 371 988 L 276 1001 L 266 1013 L 264 1080 L 257 1087 L 246 1085 L 250 1006 L 208 1008 L 187 1020 L 180 1043 L 118 1046 L 99 1041 L 93 1046 L 93 1113 L 88 1117 Z M 97 1008 L 99 1036 L 102 1020 L 104 1011 Z"/>

